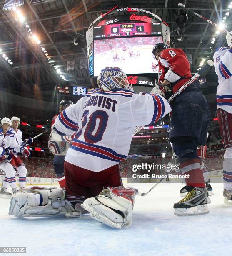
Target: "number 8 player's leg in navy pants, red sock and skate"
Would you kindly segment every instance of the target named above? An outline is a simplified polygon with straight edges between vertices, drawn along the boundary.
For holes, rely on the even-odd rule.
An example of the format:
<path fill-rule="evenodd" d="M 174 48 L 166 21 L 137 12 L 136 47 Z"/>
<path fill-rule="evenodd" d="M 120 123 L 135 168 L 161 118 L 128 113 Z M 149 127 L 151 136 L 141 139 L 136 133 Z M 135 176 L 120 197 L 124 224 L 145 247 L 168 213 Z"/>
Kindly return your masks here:
<path fill-rule="evenodd" d="M 169 138 L 179 159 L 182 174 L 186 175 L 185 189 L 188 192 L 184 199 L 174 204 L 175 215 L 209 212 L 201 162 L 197 156 L 197 143 L 209 116 L 205 97 L 197 91 L 182 92 L 172 106 Z"/>

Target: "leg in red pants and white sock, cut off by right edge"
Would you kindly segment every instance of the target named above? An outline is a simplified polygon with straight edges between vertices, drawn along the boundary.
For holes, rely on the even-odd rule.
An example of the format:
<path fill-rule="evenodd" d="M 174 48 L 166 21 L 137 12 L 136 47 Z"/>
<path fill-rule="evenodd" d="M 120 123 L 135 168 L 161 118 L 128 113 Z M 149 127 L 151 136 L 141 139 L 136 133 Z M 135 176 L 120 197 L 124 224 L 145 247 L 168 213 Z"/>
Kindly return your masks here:
<path fill-rule="evenodd" d="M 224 202 L 232 205 L 232 114 L 219 108 L 217 116 L 222 143 L 226 150 L 223 161 Z"/>

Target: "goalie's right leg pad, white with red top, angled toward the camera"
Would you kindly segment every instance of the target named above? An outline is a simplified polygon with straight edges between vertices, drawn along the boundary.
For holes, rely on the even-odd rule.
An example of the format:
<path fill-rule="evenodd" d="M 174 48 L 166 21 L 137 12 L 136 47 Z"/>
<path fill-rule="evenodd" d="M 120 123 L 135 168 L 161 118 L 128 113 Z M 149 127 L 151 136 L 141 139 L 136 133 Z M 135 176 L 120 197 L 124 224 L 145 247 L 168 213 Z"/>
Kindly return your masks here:
<path fill-rule="evenodd" d="M 107 187 L 97 197 L 86 199 L 82 207 L 90 216 L 112 228 L 129 227 L 137 189 Z"/>

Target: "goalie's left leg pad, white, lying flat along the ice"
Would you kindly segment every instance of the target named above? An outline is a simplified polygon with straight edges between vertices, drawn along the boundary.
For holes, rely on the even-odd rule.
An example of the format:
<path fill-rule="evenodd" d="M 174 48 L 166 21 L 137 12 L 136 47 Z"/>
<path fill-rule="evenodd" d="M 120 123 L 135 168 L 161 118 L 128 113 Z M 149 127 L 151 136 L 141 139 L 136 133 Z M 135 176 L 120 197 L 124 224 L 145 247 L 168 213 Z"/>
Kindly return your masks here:
<path fill-rule="evenodd" d="M 35 195 L 42 195 L 42 206 L 38 206 Z M 28 189 L 14 194 L 10 201 L 9 215 L 15 217 L 47 217 L 65 216 L 80 217 L 81 212 L 66 200 L 66 192 L 63 189 Z"/>

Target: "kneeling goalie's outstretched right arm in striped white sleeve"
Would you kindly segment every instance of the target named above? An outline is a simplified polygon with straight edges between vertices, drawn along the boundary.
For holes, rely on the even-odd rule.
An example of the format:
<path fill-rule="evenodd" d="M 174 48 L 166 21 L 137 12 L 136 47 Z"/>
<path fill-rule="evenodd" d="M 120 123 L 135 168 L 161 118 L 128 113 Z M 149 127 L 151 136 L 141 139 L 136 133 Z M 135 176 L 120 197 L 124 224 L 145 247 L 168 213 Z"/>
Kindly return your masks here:
<path fill-rule="evenodd" d="M 169 103 L 161 95 L 140 92 L 131 101 L 134 126 L 156 123 L 170 112 Z"/>

